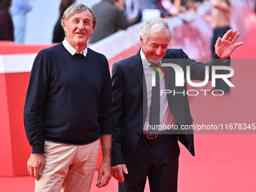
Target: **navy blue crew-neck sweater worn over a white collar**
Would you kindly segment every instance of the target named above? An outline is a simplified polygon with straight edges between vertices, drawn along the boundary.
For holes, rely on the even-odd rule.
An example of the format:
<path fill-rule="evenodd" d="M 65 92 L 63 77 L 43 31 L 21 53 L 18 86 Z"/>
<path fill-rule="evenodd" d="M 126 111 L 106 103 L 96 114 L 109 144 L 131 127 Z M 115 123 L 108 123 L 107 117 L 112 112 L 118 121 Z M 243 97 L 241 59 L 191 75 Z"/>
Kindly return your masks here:
<path fill-rule="evenodd" d="M 84 145 L 111 134 L 111 79 L 108 60 L 88 48 L 72 56 L 61 44 L 35 58 L 24 108 L 33 154 L 44 141 Z"/>

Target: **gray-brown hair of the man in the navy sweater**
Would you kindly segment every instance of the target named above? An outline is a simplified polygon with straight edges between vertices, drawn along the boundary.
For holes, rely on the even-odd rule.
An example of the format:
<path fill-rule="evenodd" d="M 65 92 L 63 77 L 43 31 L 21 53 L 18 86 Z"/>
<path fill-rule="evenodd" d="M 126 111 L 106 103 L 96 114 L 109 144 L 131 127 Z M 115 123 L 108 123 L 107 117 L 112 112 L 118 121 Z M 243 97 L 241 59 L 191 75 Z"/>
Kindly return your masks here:
<path fill-rule="evenodd" d="M 66 11 L 64 11 L 63 13 L 61 25 L 63 26 L 64 21 L 69 20 L 69 18 L 72 17 L 73 15 L 81 13 L 83 11 L 87 11 L 87 10 L 90 11 L 90 13 L 93 16 L 93 29 L 94 29 L 96 27 L 96 21 L 97 21 L 96 14 L 91 8 L 85 6 L 84 4 L 72 5 L 69 8 L 67 8 Z"/>

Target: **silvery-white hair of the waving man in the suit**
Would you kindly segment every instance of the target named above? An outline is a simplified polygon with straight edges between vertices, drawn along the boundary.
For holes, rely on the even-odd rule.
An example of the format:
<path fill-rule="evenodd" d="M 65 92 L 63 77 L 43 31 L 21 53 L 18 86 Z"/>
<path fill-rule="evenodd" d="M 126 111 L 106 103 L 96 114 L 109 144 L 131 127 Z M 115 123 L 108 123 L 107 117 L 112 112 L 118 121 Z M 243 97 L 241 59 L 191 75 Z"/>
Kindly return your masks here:
<path fill-rule="evenodd" d="M 139 35 L 142 37 L 143 42 L 146 42 L 151 30 L 154 30 L 154 32 L 161 32 L 165 29 L 169 31 L 170 40 L 172 40 L 173 31 L 172 28 L 169 27 L 167 20 L 162 18 L 154 18 L 142 24 L 139 29 Z"/>

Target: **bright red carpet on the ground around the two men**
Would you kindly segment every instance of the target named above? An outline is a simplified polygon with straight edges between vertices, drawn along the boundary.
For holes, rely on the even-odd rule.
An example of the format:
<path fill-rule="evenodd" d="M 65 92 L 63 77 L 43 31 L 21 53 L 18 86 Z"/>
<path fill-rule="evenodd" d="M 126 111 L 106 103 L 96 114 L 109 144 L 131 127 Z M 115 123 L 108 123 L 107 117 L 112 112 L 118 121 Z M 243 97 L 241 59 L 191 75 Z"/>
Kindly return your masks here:
<path fill-rule="evenodd" d="M 256 30 L 248 35 L 244 45 L 233 53 L 232 67 L 235 85 L 226 96 L 191 98 L 194 123 L 256 123 Z M 181 146 L 178 192 L 254 192 L 256 190 L 256 130 L 254 134 L 195 134 L 196 157 Z M 24 165 L 26 166 L 26 165 Z M 117 191 L 117 181 L 111 178 L 107 187 L 91 191 Z M 2 192 L 32 192 L 34 180 L 29 176 L 0 177 Z M 146 190 L 148 190 L 148 185 Z"/>

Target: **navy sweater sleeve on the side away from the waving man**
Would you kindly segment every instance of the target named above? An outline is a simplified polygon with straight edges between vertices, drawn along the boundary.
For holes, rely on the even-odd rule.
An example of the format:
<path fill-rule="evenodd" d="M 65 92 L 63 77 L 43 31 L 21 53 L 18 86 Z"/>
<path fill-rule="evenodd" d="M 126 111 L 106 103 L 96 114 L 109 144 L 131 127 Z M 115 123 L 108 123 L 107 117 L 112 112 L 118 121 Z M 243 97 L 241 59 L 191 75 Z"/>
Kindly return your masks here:
<path fill-rule="evenodd" d="M 30 74 L 24 107 L 24 126 L 32 154 L 44 154 L 42 111 L 48 89 L 47 59 L 41 53 L 35 58 Z"/>

